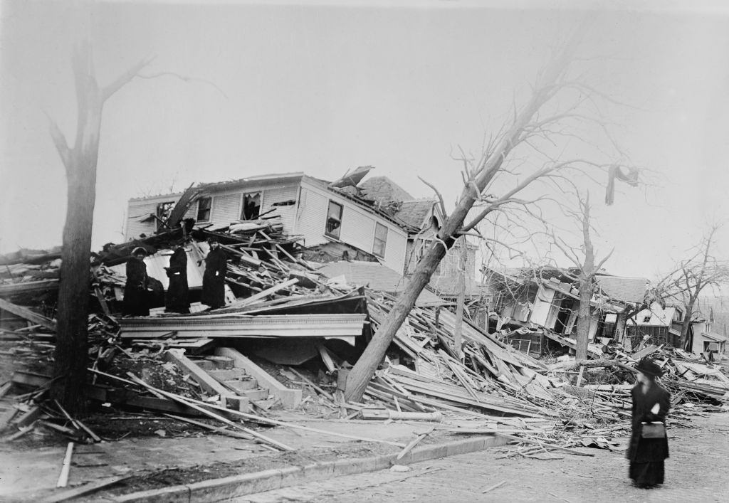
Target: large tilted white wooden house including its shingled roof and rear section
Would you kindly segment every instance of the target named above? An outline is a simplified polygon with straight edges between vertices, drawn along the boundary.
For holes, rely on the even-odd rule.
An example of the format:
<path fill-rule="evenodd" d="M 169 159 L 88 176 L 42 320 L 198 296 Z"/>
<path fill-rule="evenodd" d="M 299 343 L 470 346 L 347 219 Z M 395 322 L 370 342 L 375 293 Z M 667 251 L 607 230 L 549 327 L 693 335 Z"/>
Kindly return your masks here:
<path fill-rule="evenodd" d="M 219 232 L 235 232 L 241 227 L 268 223 L 288 238 L 287 243 L 296 243 L 296 251 L 304 260 L 324 263 L 344 260 L 350 264 L 330 267 L 322 273 L 344 274 L 354 284 L 367 284 L 354 269 L 377 271 L 373 276 L 375 281 L 387 277 L 385 283 L 389 285 L 393 284 L 394 274 L 399 278 L 394 282 L 397 287 L 383 291 L 397 293 L 432 242 L 443 214 L 436 199 L 413 198 L 385 176 L 362 182 L 371 169 L 370 166 L 356 168 L 335 182 L 304 173 L 284 173 L 200 184 L 176 194 L 135 198 L 128 203 L 125 238 L 130 241 L 147 238 L 184 220 L 194 220 L 196 227 Z M 172 215 L 173 209 L 178 212 L 176 217 Z M 204 254 L 204 244 L 201 249 Z M 475 281 L 475 249 L 476 246 L 467 245 L 465 295 L 483 326 L 485 290 Z M 200 260 L 198 254 L 193 255 L 188 257 L 188 264 Z M 457 297 L 456 271 L 460 255 L 459 241 L 431 278 L 430 292 L 440 298 L 437 301 L 430 298 L 430 303 L 453 302 Z M 356 262 L 363 263 L 352 265 Z M 372 262 L 388 271 L 373 269 Z M 343 270 L 348 270 L 348 275 Z M 161 268 L 152 267 L 150 275 L 166 286 Z M 191 278 L 190 288 L 198 289 L 199 272 L 189 270 L 188 278 Z"/>

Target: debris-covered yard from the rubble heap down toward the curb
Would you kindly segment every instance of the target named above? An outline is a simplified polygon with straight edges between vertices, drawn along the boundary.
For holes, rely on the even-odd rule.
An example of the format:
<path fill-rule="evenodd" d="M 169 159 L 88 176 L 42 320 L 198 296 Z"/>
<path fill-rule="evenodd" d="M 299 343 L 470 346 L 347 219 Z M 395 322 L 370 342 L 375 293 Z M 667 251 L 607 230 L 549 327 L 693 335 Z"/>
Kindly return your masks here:
<path fill-rule="evenodd" d="M 191 284 L 190 314 L 164 313 L 158 299 L 150 316 L 121 317 L 125 278 L 119 266 L 130 250 L 149 251 L 152 275 L 184 232 L 107 246 L 95 257 L 89 380 L 79 390 L 89 399 L 85 417 L 72 417 L 49 393 L 60 254 L 2 258 L 4 451 L 66 445 L 66 456 L 57 460 L 61 496 L 64 487 L 73 487 L 66 491 L 74 494 L 133 491 L 266 469 L 297 456 L 311 461 L 388 448 L 409 451 L 421 442 L 473 434 L 518 442 L 512 456 L 531 459 L 589 456 L 584 448 L 622 451 L 625 445 L 615 439 L 629 430 L 634 366 L 644 356 L 652 356 L 665 374 L 662 383 L 673 397 L 671 427 L 690 427 L 693 416 L 728 408 L 729 378 L 722 364 L 663 346 L 642 344 L 632 352 L 606 346 L 588 362 L 535 358 L 504 342 L 509 330 L 488 333 L 465 320 L 461 361 L 453 350 L 456 316 L 445 303 L 410 311 L 362 401 L 348 402 L 343 398 L 348 370 L 388 316 L 394 297 L 317 272 L 321 264 L 300 258 L 296 239 L 283 235 L 272 218 L 190 230 L 193 267 L 211 235 L 227 253 L 225 308 L 206 310 L 195 302 L 199 292 Z M 402 442 L 361 434 L 364 421 L 420 426 Z M 342 428 L 347 422 L 353 426 Z M 297 448 L 278 430 L 293 440 L 313 434 L 359 443 Z M 255 453 L 256 461 L 140 469 L 106 483 L 69 479 L 71 466 L 83 466 L 74 458 L 84 451 L 79 446 L 200 435 L 235 440 L 234 448 Z"/>

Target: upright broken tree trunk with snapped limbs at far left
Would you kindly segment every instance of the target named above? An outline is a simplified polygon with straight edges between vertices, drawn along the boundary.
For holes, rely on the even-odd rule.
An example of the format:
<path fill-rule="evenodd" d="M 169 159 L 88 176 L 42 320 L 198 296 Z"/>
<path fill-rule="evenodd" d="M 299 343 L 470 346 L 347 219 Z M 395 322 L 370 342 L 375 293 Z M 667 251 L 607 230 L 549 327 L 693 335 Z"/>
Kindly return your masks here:
<path fill-rule="evenodd" d="M 130 82 L 149 61 L 140 61 L 111 84 L 100 87 L 96 82 L 90 44 L 80 44 L 71 57 L 77 99 L 76 139 L 73 147 L 69 147 L 58 125 L 50 120 L 50 134 L 66 168 L 68 194 L 61 251 L 52 396 L 72 414 L 85 410 L 91 229 L 96 198 L 101 112 L 106 100 Z"/>

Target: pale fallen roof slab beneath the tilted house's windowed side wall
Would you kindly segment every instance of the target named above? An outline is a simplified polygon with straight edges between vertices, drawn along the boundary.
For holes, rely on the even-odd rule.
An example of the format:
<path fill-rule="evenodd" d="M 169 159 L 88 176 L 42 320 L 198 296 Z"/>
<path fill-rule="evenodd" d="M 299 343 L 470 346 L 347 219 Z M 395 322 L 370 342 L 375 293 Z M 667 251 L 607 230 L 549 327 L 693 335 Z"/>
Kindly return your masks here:
<path fill-rule="evenodd" d="M 388 293 L 402 292 L 408 284 L 408 280 L 398 274 L 397 271 L 377 262 L 350 262 L 347 260 L 328 262 L 322 265 L 318 272 L 324 274 L 327 278 L 344 276 L 348 284 L 354 286 L 364 285 L 373 290 Z M 428 290 L 423 290 L 416 301 L 416 305 L 443 305 L 445 303 L 445 300 Z"/>

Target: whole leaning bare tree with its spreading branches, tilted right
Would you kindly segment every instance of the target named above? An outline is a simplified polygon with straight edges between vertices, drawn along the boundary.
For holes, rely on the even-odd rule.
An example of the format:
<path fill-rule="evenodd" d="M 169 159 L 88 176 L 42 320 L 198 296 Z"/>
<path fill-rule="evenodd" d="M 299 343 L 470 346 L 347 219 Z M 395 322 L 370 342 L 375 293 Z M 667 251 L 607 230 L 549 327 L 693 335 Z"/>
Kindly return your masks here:
<path fill-rule="evenodd" d="M 581 82 L 571 80 L 568 75 L 576 39 L 577 36 L 573 37 L 565 50 L 542 72 L 531 98 L 521 110 L 515 110 L 513 119 L 502 133 L 492 139 L 479 156 L 463 157 L 464 187 L 451 214 L 445 211 L 443 198 L 439 194 L 440 210 L 445 215 L 443 225 L 418 261 L 408 285 L 397 298 L 389 316 L 348 374 L 346 399 L 358 400 L 362 397 L 367 383 L 382 361 L 395 333 L 415 305 L 418 295 L 428 284 L 446 251 L 461 235 L 477 234 L 479 222 L 495 212 L 514 211 L 514 208 L 531 212 L 530 208 L 549 199 L 543 193 L 530 195 L 529 189 L 539 186 L 540 182 L 545 187 L 561 191 L 564 184 L 569 184 L 578 173 L 590 168 L 607 172 L 610 166 L 617 165 L 615 162 L 596 163 L 580 157 L 564 159 L 561 149 L 535 147 L 537 139 L 547 139 L 548 142 L 550 136 L 574 138 L 575 133 L 566 131 L 564 125 L 572 120 L 585 120 L 583 105 L 593 104 L 592 90 Z M 564 94 L 570 104 L 561 108 L 561 102 L 555 98 Z M 538 150 L 540 162 L 525 162 L 525 153 L 515 155 L 515 149 L 522 147 Z"/>

